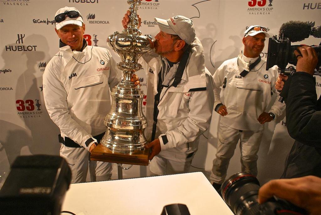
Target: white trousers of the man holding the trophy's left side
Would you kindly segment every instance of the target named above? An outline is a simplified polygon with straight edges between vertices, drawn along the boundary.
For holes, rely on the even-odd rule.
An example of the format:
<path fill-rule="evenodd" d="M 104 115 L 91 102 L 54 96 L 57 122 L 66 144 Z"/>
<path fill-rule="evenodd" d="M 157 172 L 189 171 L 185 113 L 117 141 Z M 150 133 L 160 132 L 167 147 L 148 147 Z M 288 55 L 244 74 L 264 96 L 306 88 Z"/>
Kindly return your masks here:
<path fill-rule="evenodd" d="M 61 144 L 60 156 L 65 158 L 71 169 L 71 183 L 86 182 L 88 167 L 90 180 L 108 181 L 111 179 L 111 163 L 90 160 L 89 151 L 85 148 L 67 147 Z"/>

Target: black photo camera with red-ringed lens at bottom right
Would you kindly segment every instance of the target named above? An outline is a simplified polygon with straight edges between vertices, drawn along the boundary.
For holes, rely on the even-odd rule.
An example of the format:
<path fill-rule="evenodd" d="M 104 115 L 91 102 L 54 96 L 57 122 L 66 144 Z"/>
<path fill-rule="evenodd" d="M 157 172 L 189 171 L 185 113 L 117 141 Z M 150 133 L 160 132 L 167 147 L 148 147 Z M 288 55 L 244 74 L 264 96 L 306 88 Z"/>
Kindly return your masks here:
<path fill-rule="evenodd" d="M 223 200 L 230 206 L 235 215 L 307 215 L 308 213 L 276 197 L 267 202 L 257 202 L 260 188 L 257 178 L 250 173 L 242 172 L 232 175 L 221 186 Z"/>

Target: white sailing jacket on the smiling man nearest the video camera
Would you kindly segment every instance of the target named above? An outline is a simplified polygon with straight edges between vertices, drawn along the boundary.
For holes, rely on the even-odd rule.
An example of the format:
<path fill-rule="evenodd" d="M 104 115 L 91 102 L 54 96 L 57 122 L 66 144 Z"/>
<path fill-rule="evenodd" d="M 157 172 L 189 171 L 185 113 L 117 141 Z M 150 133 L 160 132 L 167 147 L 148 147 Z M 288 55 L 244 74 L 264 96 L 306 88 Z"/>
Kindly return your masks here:
<path fill-rule="evenodd" d="M 264 125 L 257 120 L 263 112 L 280 116 L 285 104 L 278 101 L 279 93 L 274 88 L 277 67 L 266 70 L 266 61 L 261 60 L 245 77 L 240 76 L 243 70 L 249 71 L 248 67 L 249 63 L 240 54 L 224 61 L 215 71 L 214 108 L 220 103 L 226 106 L 228 115 L 221 117 L 221 123 L 234 129 L 257 131 L 264 129 Z M 224 101 L 220 98 L 221 87 Z M 267 110 L 272 93 L 277 93 L 277 98 L 271 109 Z"/>

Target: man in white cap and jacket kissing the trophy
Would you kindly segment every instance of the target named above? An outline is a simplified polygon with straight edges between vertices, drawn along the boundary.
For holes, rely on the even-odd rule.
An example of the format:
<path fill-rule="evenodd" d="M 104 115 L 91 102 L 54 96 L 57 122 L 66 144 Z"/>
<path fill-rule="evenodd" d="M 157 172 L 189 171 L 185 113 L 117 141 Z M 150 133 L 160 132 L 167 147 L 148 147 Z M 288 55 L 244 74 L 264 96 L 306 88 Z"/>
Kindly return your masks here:
<path fill-rule="evenodd" d="M 123 18 L 126 28 L 130 12 Z M 150 170 L 156 175 L 187 172 L 199 136 L 209 127 L 213 79 L 192 20 L 155 18 L 160 32 L 154 52 L 140 58 L 148 79 L 145 135 L 151 148 Z"/>

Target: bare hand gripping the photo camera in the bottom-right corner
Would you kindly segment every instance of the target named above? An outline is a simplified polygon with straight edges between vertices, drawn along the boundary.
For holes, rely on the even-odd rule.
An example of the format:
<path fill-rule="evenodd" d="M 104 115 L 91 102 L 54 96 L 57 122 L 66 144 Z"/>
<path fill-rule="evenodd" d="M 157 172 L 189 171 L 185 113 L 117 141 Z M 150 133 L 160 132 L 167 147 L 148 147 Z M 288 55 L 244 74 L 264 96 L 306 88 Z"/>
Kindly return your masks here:
<path fill-rule="evenodd" d="M 274 195 L 307 210 L 310 215 L 321 214 L 321 178 L 319 177 L 271 180 L 259 189 L 258 202 L 262 204 Z"/>

